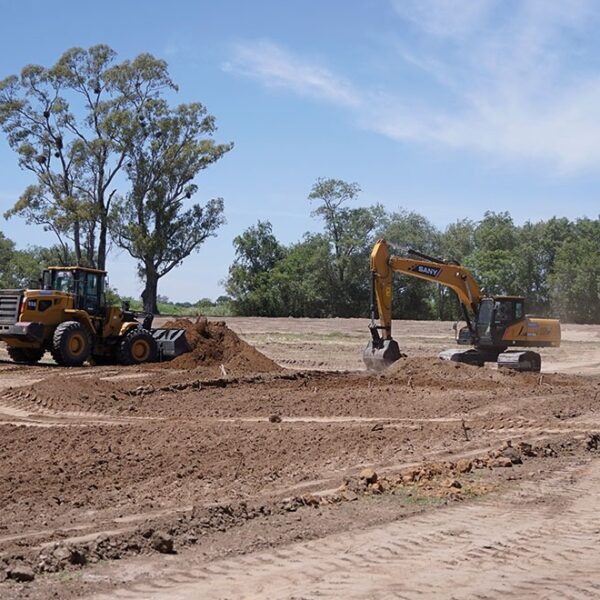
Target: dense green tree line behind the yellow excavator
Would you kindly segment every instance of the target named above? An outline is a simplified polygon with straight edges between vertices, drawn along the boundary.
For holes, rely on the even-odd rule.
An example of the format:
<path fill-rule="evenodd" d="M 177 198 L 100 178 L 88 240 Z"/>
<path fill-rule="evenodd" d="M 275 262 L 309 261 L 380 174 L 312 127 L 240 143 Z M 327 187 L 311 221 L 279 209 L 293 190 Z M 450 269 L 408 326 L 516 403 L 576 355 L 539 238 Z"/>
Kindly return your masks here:
<path fill-rule="evenodd" d="M 234 314 L 368 316 L 369 254 L 385 238 L 398 253 L 411 247 L 460 262 L 487 294 L 524 296 L 530 314 L 600 323 L 600 219 L 518 226 L 508 212 L 490 211 L 480 221 L 458 220 L 440 230 L 416 212 L 350 207 L 359 192 L 356 183 L 318 180 L 309 200 L 323 231 L 306 233 L 297 243 L 280 243 L 268 221 L 237 236 L 225 282 Z M 461 317 L 447 288 L 398 274 L 395 283 L 395 318 Z"/>

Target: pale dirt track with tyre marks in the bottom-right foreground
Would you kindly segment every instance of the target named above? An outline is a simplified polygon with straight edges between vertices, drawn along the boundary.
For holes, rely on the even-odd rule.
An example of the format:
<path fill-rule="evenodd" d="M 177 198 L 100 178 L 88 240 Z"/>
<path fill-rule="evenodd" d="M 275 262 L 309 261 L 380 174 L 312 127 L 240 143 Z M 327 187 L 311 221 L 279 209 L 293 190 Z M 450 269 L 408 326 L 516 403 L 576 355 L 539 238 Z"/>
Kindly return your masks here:
<path fill-rule="evenodd" d="M 171 570 L 94 598 L 597 597 L 599 486 L 595 460 L 494 500 Z"/>

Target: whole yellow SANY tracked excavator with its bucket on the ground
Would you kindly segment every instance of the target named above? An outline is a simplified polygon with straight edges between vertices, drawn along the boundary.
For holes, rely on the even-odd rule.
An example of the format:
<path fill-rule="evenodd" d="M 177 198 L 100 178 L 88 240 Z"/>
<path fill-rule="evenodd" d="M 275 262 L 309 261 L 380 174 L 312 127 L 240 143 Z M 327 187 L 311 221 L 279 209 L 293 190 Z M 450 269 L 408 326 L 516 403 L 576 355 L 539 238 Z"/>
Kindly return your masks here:
<path fill-rule="evenodd" d="M 446 350 L 440 354 L 444 360 L 478 366 L 496 362 L 501 368 L 539 371 L 541 357 L 537 352 L 512 348 L 560 345 L 558 319 L 525 314 L 523 297 L 486 296 L 471 272 L 458 262 L 432 258 L 412 249 L 405 254 L 408 256 L 392 254 L 384 239 L 378 240 L 371 252 L 371 341 L 363 355 L 368 368 L 385 368 L 402 356 L 398 343 L 392 338 L 394 273 L 446 286 L 458 296 L 466 326 L 457 329 L 456 342 L 472 348 Z"/>

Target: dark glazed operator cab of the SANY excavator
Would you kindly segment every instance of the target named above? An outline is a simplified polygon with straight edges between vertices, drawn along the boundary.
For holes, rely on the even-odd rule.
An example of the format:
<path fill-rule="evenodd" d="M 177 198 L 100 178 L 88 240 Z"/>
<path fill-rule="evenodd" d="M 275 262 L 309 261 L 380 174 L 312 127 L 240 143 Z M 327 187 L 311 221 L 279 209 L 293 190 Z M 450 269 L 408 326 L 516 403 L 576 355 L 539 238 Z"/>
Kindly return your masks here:
<path fill-rule="evenodd" d="M 477 335 L 480 346 L 502 347 L 506 328 L 525 316 L 525 300 L 521 296 L 483 298 L 477 314 Z"/>

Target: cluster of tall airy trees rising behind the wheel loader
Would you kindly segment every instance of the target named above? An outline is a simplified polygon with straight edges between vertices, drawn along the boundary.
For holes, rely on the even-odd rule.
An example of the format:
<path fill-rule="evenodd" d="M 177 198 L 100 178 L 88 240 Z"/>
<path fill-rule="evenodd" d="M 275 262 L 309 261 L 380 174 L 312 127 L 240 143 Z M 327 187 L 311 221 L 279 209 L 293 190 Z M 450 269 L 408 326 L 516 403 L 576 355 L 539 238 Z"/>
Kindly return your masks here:
<path fill-rule="evenodd" d="M 139 261 L 147 309 L 158 279 L 223 223 L 223 201 L 186 205 L 196 175 L 232 147 L 195 102 L 171 108 L 165 61 L 71 48 L 51 67 L 0 81 L 0 128 L 34 183 L 5 217 L 53 232 L 63 258 L 106 267 L 113 240 Z"/>

